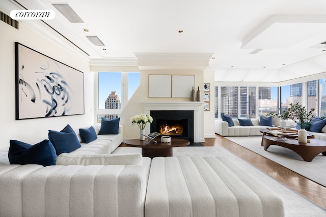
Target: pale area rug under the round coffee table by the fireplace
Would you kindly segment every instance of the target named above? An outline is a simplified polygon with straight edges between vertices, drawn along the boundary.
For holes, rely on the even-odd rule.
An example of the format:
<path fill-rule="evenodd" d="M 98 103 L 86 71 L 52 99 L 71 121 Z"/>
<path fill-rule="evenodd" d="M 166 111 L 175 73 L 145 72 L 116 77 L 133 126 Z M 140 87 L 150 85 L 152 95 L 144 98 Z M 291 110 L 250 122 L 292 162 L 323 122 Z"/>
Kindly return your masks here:
<path fill-rule="evenodd" d="M 113 153 L 141 153 L 141 148 L 135 147 L 118 147 Z M 253 167 L 251 164 L 243 161 L 235 156 L 233 153 L 223 147 L 176 147 L 173 148 L 173 156 L 216 156 L 228 157 L 230 161 L 237 162 L 240 167 L 246 169 L 262 182 L 266 183 L 268 187 L 277 193 L 284 202 L 285 216 L 326 216 L 326 210 L 320 208 L 314 203 L 310 202 L 303 196 L 293 192 L 280 183 L 271 178 L 262 171 Z"/>

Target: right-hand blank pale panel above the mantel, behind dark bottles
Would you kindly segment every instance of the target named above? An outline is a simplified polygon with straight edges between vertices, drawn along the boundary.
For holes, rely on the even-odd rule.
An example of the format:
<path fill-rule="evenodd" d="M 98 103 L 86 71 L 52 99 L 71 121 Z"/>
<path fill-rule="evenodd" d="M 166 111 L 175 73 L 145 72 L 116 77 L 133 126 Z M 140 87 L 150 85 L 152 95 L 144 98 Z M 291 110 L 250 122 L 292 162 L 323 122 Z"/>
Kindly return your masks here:
<path fill-rule="evenodd" d="M 172 75 L 172 98 L 191 98 L 195 75 Z"/>

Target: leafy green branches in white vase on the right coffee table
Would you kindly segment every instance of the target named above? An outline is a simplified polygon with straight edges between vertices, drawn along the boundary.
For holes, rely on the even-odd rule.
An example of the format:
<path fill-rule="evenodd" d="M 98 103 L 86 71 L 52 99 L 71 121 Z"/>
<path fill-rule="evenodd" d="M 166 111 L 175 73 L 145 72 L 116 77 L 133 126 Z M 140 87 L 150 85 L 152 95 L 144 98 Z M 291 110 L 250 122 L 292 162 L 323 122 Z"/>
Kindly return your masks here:
<path fill-rule="evenodd" d="M 298 131 L 298 141 L 307 143 L 307 131 L 306 128 L 309 127 L 309 122 L 312 118 L 315 117 L 313 112 L 314 108 L 311 108 L 309 112 L 307 112 L 306 107 L 300 105 L 299 103 L 290 104 L 290 108 L 288 108 L 288 117 L 294 120 L 298 125 L 300 125 L 301 129 Z"/>

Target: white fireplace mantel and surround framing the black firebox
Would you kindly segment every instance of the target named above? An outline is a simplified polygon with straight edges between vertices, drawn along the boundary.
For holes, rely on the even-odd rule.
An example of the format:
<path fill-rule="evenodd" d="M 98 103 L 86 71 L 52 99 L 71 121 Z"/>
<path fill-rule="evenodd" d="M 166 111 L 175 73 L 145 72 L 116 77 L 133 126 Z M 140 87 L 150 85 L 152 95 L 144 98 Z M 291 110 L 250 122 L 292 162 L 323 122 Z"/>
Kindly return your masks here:
<path fill-rule="evenodd" d="M 194 111 L 194 142 L 203 142 L 204 138 L 201 135 L 201 122 L 203 117 L 201 115 L 201 106 L 204 102 L 144 102 L 145 114 L 150 114 L 152 110 L 191 110 Z M 145 134 L 149 134 L 150 130 L 145 129 Z"/>

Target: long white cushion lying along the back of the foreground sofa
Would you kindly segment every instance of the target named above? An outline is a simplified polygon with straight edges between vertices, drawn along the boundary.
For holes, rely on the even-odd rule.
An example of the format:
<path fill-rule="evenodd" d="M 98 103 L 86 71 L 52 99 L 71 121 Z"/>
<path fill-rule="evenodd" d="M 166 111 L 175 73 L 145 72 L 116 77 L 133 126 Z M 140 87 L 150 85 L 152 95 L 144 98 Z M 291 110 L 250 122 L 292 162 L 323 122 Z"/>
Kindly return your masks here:
<path fill-rule="evenodd" d="M 142 165 L 141 153 L 126 154 L 73 154 L 62 153 L 57 158 L 57 165 Z"/>

